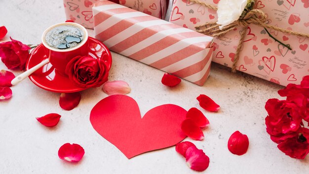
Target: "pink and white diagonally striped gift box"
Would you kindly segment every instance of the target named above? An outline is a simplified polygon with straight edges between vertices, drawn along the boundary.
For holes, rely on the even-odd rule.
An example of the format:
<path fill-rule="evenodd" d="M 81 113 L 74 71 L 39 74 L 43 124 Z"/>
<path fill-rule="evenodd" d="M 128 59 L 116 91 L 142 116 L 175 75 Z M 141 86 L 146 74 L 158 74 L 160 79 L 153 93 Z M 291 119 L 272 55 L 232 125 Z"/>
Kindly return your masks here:
<path fill-rule="evenodd" d="M 213 38 L 110 2 L 93 5 L 95 38 L 111 50 L 204 85 Z"/>

